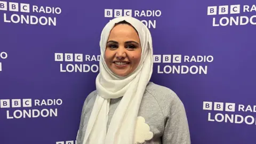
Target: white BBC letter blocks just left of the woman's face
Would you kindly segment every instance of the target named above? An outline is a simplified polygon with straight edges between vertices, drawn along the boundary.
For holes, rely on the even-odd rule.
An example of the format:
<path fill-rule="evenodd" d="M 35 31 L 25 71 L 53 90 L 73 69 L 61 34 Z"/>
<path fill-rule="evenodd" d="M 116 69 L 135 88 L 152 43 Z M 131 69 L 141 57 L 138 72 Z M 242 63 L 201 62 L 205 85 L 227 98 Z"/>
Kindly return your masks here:
<path fill-rule="evenodd" d="M 83 54 L 55 53 L 55 61 L 74 61 L 74 59 L 75 59 L 75 61 L 83 62 Z"/>

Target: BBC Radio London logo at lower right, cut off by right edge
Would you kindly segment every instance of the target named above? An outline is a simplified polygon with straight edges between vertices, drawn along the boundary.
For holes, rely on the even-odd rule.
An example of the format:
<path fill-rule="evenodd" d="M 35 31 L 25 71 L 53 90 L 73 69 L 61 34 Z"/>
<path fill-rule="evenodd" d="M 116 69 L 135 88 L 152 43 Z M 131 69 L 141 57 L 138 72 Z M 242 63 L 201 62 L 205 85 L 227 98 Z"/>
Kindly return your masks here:
<path fill-rule="evenodd" d="M 203 110 L 209 111 L 207 121 L 218 123 L 234 123 L 256 125 L 256 106 L 230 102 L 203 101 Z"/>

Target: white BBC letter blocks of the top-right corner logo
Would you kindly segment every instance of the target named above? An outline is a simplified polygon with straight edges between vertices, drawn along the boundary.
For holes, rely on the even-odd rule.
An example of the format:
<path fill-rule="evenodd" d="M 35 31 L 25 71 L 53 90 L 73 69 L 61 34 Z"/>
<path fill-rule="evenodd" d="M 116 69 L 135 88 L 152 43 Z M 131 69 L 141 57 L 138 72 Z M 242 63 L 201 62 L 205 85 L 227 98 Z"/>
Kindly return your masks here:
<path fill-rule="evenodd" d="M 207 15 L 217 15 L 218 14 L 236 14 L 240 13 L 240 5 L 230 5 L 230 10 L 229 10 L 229 5 L 220 5 L 220 6 L 208 6 L 207 7 Z"/>

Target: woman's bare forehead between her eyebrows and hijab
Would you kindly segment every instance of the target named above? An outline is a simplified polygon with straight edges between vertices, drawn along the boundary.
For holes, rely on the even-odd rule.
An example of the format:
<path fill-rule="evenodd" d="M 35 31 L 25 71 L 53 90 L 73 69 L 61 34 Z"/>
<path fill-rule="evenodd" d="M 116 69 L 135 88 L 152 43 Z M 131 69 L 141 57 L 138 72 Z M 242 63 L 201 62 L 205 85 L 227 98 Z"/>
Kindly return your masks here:
<path fill-rule="evenodd" d="M 131 38 L 134 41 L 139 42 L 139 35 L 137 31 L 130 25 L 120 24 L 116 25 L 109 34 L 109 39 L 121 39 L 121 38 Z"/>

